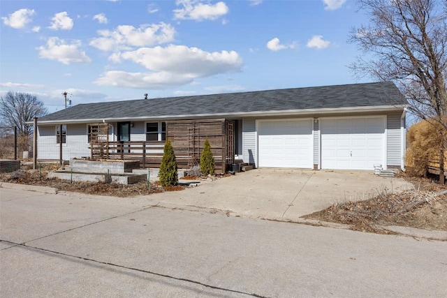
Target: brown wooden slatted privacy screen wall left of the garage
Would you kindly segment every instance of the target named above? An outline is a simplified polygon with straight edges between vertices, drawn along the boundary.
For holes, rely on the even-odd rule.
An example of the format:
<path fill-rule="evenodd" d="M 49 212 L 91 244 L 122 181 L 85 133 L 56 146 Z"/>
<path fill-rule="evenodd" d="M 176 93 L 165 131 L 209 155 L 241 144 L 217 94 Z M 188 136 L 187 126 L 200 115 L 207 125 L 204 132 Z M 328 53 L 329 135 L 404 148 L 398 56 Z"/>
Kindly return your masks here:
<path fill-rule="evenodd" d="M 227 119 L 167 121 L 166 138 L 173 144 L 179 168 L 200 163 L 205 140 L 214 156 L 215 172 L 223 174 L 234 162 L 234 122 Z"/>

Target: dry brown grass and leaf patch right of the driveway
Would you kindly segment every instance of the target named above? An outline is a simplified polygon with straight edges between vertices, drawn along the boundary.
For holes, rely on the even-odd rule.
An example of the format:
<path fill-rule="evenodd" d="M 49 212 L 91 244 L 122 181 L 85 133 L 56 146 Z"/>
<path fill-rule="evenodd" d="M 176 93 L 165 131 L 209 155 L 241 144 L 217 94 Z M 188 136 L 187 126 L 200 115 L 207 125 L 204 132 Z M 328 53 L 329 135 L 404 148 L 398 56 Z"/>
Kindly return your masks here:
<path fill-rule="evenodd" d="M 407 177 L 415 185 L 402 193 L 381 191 L 375 198 L 336 203 L 305 218 L 344 223 L 353 230 L 390 233 L 386 225 L 401 225 L 425 230 L 447 231 L 446 188 L 425 178 Z"/>

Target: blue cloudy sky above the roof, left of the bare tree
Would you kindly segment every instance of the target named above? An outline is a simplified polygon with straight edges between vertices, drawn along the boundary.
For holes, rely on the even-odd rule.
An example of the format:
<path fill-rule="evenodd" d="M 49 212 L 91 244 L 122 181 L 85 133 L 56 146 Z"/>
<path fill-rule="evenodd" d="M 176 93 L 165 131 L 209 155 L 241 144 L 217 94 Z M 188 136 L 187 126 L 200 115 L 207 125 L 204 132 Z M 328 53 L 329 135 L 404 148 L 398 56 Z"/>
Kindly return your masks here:
<path fill-rule="evenodd" d="M 0 95 L 99 101 L 369 82 L 353 0 L 0 1 Z"/>

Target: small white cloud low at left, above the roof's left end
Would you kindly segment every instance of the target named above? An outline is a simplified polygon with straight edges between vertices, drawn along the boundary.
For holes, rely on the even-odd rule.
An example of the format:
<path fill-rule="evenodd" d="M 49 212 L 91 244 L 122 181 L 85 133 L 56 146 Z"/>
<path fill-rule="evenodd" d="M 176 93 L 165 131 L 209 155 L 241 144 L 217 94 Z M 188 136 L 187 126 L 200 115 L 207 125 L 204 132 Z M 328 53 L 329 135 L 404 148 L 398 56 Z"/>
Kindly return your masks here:
<path fill-rule="evenodd" d="M 50 37 L 47 45 L 36 47 L 39 51 L 39 57 L 49 60 L 56 60 L 63 64 L 72 63 L 90 63 L 91 59 L 85 52 L 79 50 L 81 46 L 80 40 L 74 40 L 72 43 L 66 43 L 65 40 L 57 37 Z"/>

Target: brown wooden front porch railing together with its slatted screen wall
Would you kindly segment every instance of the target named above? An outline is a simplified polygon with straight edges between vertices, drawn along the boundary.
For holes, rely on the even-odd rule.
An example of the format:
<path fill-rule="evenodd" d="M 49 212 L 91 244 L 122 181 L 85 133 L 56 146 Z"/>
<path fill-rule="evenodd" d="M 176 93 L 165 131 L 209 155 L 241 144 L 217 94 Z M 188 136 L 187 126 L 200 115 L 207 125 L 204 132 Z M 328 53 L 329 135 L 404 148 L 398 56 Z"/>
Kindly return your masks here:
<path fill-rule="evenodd" d="M 160 167 L 166 140 L 173 144 L 177 166 L 189 169 L 200 163 L 205 140 L 210 142 L 215 172 L 223 174 L 235 163 L 235 124 L 228 119 L 166 121 L 163 140 L 131 140 L 133 124 L 117 124 L 117 141 L 110 140 L 110 124 L 89 124 L 91 160 L 140 161 L 141 168 Z M 146 129 L 147 131 L 147 129 Z M 165 133 L 165 132 L 163 132 Z M 146 137 L 150 138 L 150 137 Z"/>

